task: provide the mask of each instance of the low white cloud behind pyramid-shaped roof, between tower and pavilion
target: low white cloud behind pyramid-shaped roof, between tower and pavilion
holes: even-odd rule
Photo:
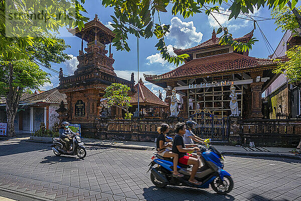
[[[137,83],[137,72],[135,71],[130,71],[130,70],[115,70],[115,73],[117,74],[118,77],[121,77],[123,79],[130,80],[130,75],[131,73],[134,73],[135,77],[135,84]],[[157,96],[159,96],[159,89],[162,91],[162,97],[163,100],[166,97],[166,91],[160,87],[157,86],[153,83],[150,83],[148,81],[145,81],[143,74],[148,74],[148,75],[153,75],[153,74],[161,74],[160,72],[155,72],[155,71],[139,71],[139,79],[142,78],[142,81],[144,82],[144,85],[153,93],[155,93]]]

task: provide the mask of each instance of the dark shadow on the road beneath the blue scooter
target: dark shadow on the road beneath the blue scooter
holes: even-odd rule
[[[205,189],[179,186],[167,186],[165,188],[150,186],[148,188],[143,188],[143,191],[144,199],[149,201],[162,198],[165,198],[165,200],[235,200],[232,195],[222,195],[208,192]]]

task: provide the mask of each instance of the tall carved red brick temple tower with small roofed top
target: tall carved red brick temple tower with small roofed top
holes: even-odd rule
[[[115,35],[99,22],[97,15],[82,30],[75,28],[68,31],[81,38],[82,42],[77,56],[79,64],[74,75],[64,77],[62,70],[60,73],[58,88],[67,95],[68,104],[68,115],[65,119],[72,124],[81,124],[82,133],[93,133],[104,89],[111,83],[121,83],[128,85],[133,92],[134,80],[133,76],[130,81],[116,76],[110,45]],[[87,43],[85,52],[83,41]],[[108,44],[109,51],[106,50]],[[112,114],[113,117],[120,118],[121,110],[112,109]]]

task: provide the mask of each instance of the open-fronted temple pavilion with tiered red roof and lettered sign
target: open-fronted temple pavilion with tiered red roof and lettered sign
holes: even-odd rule
[[[253,31],[234,40],[247,42]],[[213,30],[212,37],[188,49],[175,49],[177,55],[188,54],[185,64],[161,75],[144,75],[145,80],[161,86],[171,95],[176,89],[184,100],[183,117],[197,110],[209,110],[217,117],[231,115],[230,86],[238,95],[238,110],[243,118],[262,118],[262,88],[267,84],[276,63],[270,59],[254,58],[249,52],[219,45]],[[168,100],[170,104],[170,99]],[[185,114],[185,115],[184,115]]]

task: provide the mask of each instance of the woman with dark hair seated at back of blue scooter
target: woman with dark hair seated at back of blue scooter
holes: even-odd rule
[[[159,133],[158,138],[157,138],[158,154],[162,157],[168,157],[168,158],[173,157],[174,158],[174,160],[173,160],[173,163],[174,163],[173,177],[183,177],[184,175],[180,174],[178,172],[178,168],[177,168],[179,155],[170,151],[170,147],[173,147],[171,142],[169,142],[168,144],[165,144],[165,142],[167,141],[166,134],[169,132],[169,125],[162,124],[161,127],[157,128],[157,131]]]

